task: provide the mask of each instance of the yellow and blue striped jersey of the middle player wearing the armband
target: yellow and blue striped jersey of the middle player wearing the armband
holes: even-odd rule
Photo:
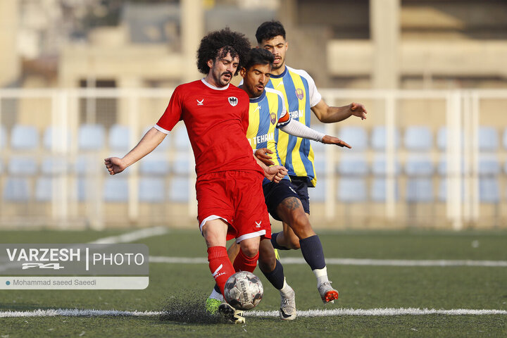
[[[277,90],[265,88],[261,96],[250,99],[246,138],[253,150],[268,148],[273,151],[272,159],[275,165],[282,165],[277,149],[279,128],[287,125],[289,120],[284,97]]]

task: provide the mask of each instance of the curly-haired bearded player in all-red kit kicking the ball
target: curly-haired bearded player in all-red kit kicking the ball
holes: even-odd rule
[[[255,158],[246,139],[249,97],[230,80],[249,50],[248,39],[228,28],[206,35],[197,60],[206,77],[178,86],[161,118],[139,144],[123,158],[104,160],[111,175],[121,173],[153,151],[183,120],[196,162],[199,228],[208,246],[209,268],[222,294],[235,270],[256,268],[261,237],[270,239],[263,178],[280,182],[287,175],[284,167],[268,167]],[[241,247],[233,263],[225,248],[232,238]],[[239,311],[226,303],[219,311],[244,322]]]

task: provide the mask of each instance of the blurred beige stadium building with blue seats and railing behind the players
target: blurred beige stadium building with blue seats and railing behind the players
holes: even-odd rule
[[[107,177],[101,159],[123,155],[173,88],[201,77],[206,32],[227,25],[255,45],[272,19],[287,30],[287,63],[307,70],[328,104],[370,111],[363,122],[314,124],[354,147],[315,145],[315,221],[505,225],[498,0],[2,0],[0,225],[193,224],[184,127],[121,177]]]

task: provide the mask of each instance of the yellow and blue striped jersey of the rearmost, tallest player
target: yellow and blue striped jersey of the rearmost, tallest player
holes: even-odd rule
[[[308,73],[286,65],[282,74],[270,76],[266,85],[268,88],[282,92],[291,118],[310,127],[311,107],[318,104],[322,96]],[[282,165],[289,170],[289,175],[308,177],[308,184],[315,187],[317,178],[310,140],[280,132],[277,148]]]

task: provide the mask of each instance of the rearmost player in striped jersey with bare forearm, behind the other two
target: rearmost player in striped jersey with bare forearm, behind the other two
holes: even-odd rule
[[[285,40],[284,27],[280,22],[268,21],[261,24],[257,28],[256,39],[258,47],[270,51],[275,58],[267,87],[282,92],[287,111],[293,120],[298,120],[309,127],[312,112],[323,123],[339,122],[351,115],[361,119],[366,118],[367,112],[362,104],[352,103],[343,107],[327,106],[311,76],[304,70],[296,70],[285,64],[288,44]],[[277,149],[278,154],[276,155],[280,156],[281,163],[289,171],[292,187],[298,194],[304,211],[309,215],[308,187],[315,187],[317,182],[311,144],[308,139],[280,132]],[[263,159],[265,164],[273,164],[274,162],[270,161],[272,156],[269,154],[273,154],[270,149],[256,151],[256,156]],[[275,157],[273,156],[273,158]],[[327,277],[322,244],[315,233],[309,237],[302,237],[301,234],[294,231],[294,227],[284,223],[283,231],[272,234],[271,242],[275,249],[301,248],[303,257],[317,277],[317,287],[324,303],[334,299],[328,299],[326,296],[328,290],[334,289]],[[337,296],[336,292],[336,298]]]

